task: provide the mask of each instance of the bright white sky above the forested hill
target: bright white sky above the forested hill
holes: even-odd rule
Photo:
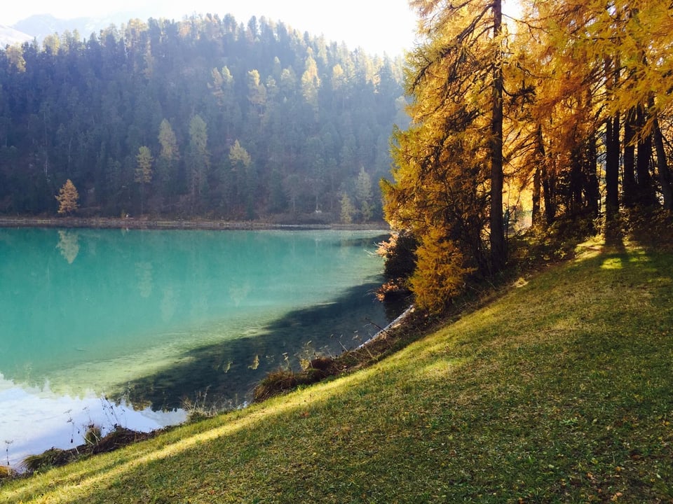
[[[416,28],[416,16],[407,0],[9,0],[0,8],[0,25],[11,26],[35,14],[71,19],[120,11],[137,13],[143,20],[230,13],[246,24],[252,15],[264,15],[314,36],[322,34],[328,41],[344,41],[351,49],[362,47],[393,57],[413,47]]]

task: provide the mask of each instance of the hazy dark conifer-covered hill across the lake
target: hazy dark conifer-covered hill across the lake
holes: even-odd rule
[[[0,51],[0,214],[368,221],[402,61],[282,22],[130,20]]]

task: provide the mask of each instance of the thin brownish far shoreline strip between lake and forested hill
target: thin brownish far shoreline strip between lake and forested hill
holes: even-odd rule
[[[165,218],[120,217],[11,217],[0,216],[0,228],[92,228],[136,230],[382,230],[385,222],[367,224],[278,224],[261,221],[222,221],[215,219],[172,220]]]

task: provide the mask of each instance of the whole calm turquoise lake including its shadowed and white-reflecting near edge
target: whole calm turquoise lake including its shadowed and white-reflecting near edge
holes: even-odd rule
[[[392,321],[377,231],[0,228],[0,463],[238,407]]]

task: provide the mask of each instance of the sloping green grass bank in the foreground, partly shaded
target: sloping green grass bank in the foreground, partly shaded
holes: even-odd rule
[[[673,254],[584,244],[367,369],[0,503],[673,502]]]

